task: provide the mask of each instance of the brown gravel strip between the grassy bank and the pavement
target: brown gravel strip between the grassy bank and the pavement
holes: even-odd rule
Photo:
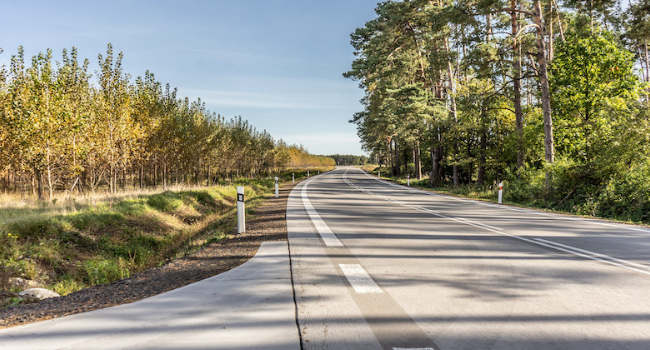
[[[244,234],[127,279],[0,310],[0,329],[132,303],[233,269],[253,257],[261,242],[287,240],[287,199],[293,187],[283,186],[279,198],[271,196],[258,207]]]

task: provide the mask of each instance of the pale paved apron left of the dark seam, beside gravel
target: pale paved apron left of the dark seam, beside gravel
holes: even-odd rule
[[[0,349],[300,349],[287,242],[135,303],[0,330]]]

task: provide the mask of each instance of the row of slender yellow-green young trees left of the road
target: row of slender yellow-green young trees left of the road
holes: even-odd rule
[[[241,117],[225,120],[146,72],[134,82],[109,44],[89,73],[77,50],[0,67],[0,190],[80,192],[255,176],[308,158]],[[301,158],[301,159],[302,159]],[[299,165],[310,164],[303,161]]]

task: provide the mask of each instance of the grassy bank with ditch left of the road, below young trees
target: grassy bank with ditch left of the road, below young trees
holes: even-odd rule
[[[325,169],[311,169],[311,173]],[[306,177],[289,170],[282,181]],[[246,189],[246,212],[272,195],[272,178],[220,186],[88,196],[26,203],[0,200],[2,305],[24,302],[23,284],[65,295],[110,283],[227,239],[236,228],[236,186]],[[9,293],[7,293],[9,292]]]

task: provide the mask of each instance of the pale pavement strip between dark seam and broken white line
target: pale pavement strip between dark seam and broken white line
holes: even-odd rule
[[[381,349],[330,260],[327,250],[342,248],[309,204],[305,193],[309,182],[296,186],[287,203],[287,234],[304,349]]]

